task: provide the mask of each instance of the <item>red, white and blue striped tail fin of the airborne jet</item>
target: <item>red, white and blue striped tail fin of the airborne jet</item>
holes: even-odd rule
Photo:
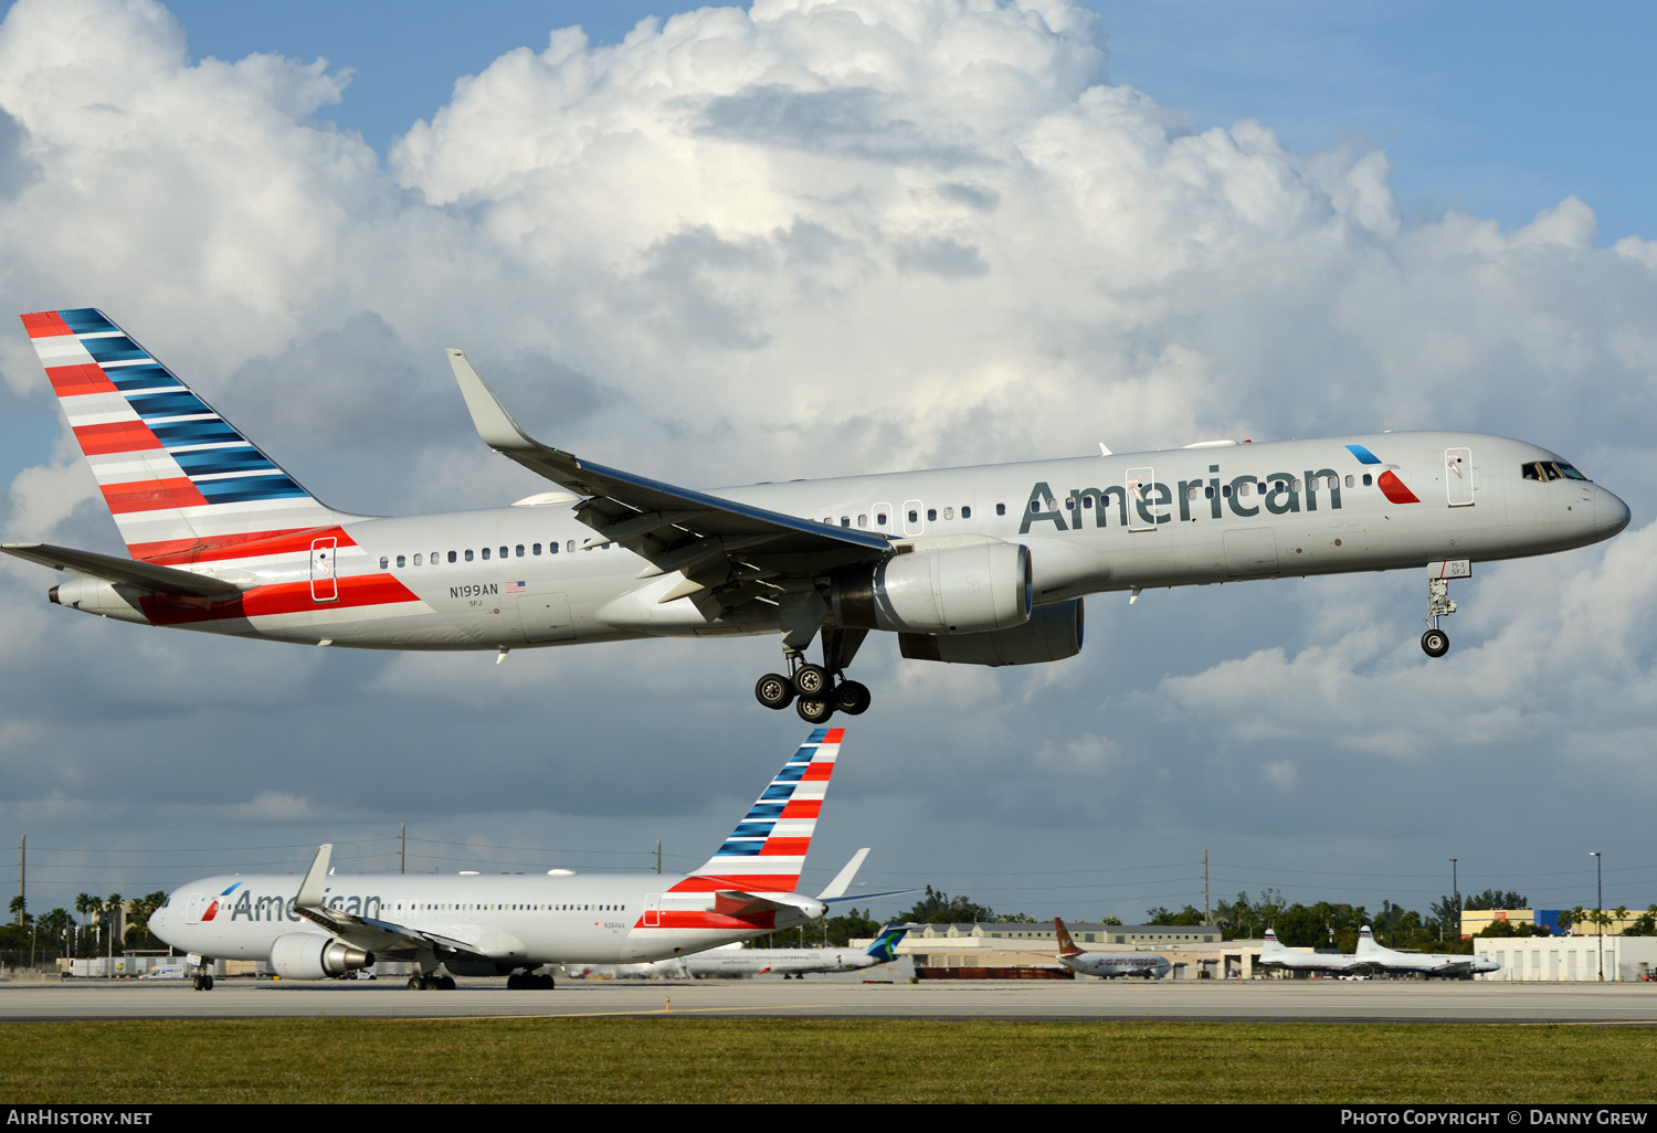
[[[302,489],[103,311],[22,318],[133,558],[224,558],[353,518]]]

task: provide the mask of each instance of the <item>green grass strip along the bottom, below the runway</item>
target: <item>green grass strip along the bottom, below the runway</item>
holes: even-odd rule
[[[535,1019],[0,1029],[10,1103],[1644,1102],[1657,1029]]]

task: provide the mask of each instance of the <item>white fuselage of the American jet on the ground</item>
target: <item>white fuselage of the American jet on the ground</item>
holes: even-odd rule
[[[721,916],[714,893],[673,893],[681,876],[335,875],[323,903],[365,921],[466,941],[500,971],[539,964],[668,959],[804,924],[777,909],[759,921]],[[167,944],[217,959],[268,959],[277,938],[325,933],[295,909],[298,876],[202,878],[149,921]]]

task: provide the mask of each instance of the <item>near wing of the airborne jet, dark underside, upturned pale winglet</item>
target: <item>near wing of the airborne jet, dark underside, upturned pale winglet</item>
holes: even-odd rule
[[[587,497],[575,505],[575,513],[603,537],[595,542],[621,543],[648,558],[653,568],[641,578],[684,571],[688,583],[669,591],[663,601],[724,586],[717,605],[731,608],[757,596],[752,588],[731,583],[820,575],[891,553],[886,537],[873,532],[832,527],[663,484],[540,444],[519,427],[464,353],[451,350],[449,364],[484,444]]]

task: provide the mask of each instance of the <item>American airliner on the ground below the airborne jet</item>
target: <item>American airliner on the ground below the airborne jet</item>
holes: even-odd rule
[[[421,967],[411,989],[454,987],[454,976],[550,989],[550,976],[534,974],[543,964],[656,961],[809,924],[845,899],[868,853],[815,898],[794,891],[842,732],[812,732],[714,856],[686,876],[346,876],[328,871],[325,845],[297,888],[292,875],[202,878],[174,890],[149,929],[191,954],[200,991],[212,989],[209,959],[268,961],[283,979],[411,961]]]

